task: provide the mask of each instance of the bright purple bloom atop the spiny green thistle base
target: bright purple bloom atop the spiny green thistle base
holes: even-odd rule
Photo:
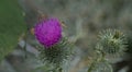
[[[36,39],[45,47],[52,47],[62,38],[62,26],[57,19],[51,17],[38,22],[34,28]]]

